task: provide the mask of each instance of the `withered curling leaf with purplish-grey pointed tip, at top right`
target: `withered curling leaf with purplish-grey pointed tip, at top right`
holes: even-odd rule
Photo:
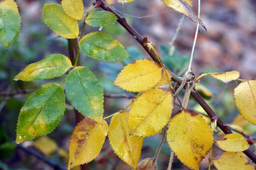
[[[203,22],[197,15],[195,14],[195,11],[193,9],[192,0],[162,0],[164,4],[168,7],[172,7],[176,11],[179,11],[180,13],[183,13],[190,19],[192,19],[194,22],[199,23],[203,28],[205,26],[203,25]]]

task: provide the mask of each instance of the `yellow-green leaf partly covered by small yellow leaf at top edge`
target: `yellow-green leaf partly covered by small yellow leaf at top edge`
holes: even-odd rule
[[[44,23],[63,38],[77,38],[79,34],[78,22],[73,19],[56,3],[44,5],[42,9]]]

